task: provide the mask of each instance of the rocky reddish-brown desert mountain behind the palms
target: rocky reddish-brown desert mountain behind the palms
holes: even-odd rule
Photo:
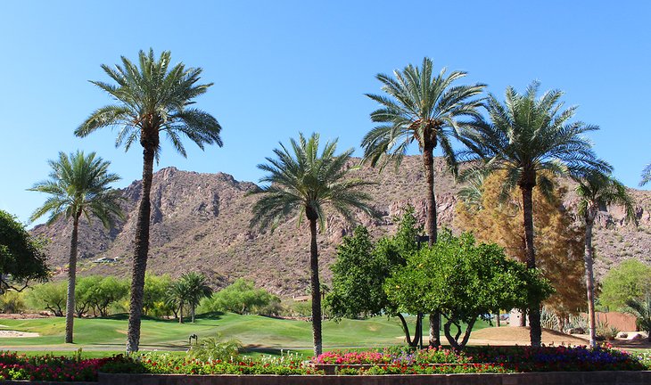
[[[459,185],[445,172],[442,160],[436,160],[435,169],[440,225],[451,226]],[[400,168],[389,166],[382,173],[365,166],[351,174],[375,183],[367,187],[367,192],[382,217],[357,216],[358,222],[367,225],[375,236],[392,232],[392,217],[407,204],[414,206],[424,220],[426,185],[420,157],[407,157]],[[80,226],[80,274],[130,274],[141,184],[136,181],[122,190],[127,217],[111,231],[104,230],[99,221]],[[309,286],[309,229],[304,221],[299,226],[296,218],[282,223],[273,233],[250,228],[251,206],[256,198],[247,193],[257,188],[256,184],[239,182],[222,173],[199,174],[177,168],[155,173],[148,271],[172,276],[201,271],[216,286],[246,277],[280,295],[303,294]],[[597,275],[624,258],[651,263],[647,252],[651,247],[651,193],[631,193],[637,204],[639,226],[624,223],[620,208],[605,208],[599,213],[595,231]],[[567,197],[568,206],[575,201],[572,194]],[[350,231],[351,226],[341,218],[329,215],[326,229],[318,236],[321,272],[326,282],[335,247]],[[50,262],[63,278],[71,224],[60,220],[50,226],[38,225],[33,232],[52,240],[48,246]],[[99,258],[116,260],[95,262]]]

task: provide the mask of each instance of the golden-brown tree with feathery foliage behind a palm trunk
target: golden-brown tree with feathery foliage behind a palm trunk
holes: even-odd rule
[[[472,231],[480,242],[496,242],[505,248],[507,256],[526,261],[524,249],[522,201],[517,192],[504,196],[504,172],[494,173],[481,184],[480,201],[466,200],[457,205],[455,225]],[[551,177],[550,182],[556,184]],[[584,232],[574,223],[570,210],[563,206],[567,189],[552,188],[547,197],[540,191],[532,194],[537,266],[556,292],[546,301],[559,320],[576,314],[586,303],[583,280]],[[493,309],[495,311],[497,309]]]

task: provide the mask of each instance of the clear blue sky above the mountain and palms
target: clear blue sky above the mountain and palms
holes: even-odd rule
[[[299,131],[358,148],[373,127],[364,94],[379,92],[375,74],[429,56],[500,96],[533,79],[564,90],[577,119],[601,127],[590,136],[598,155],[636,186],[651,161],[650,17],[647,1],[4,2],[0,209],[27,221],[45,196],[25,189],[60,151],[111,160],[118,187],[140,178],[138,146],[116,149],[110,129],[72,132],[111,102],[87,81],[107,80],[100,65],[149,47],[215,83],[197,106],[219,120],[225,143],[205,152],[188,143],[187,160],[166,143],[156,169],[257,181],[256,165]]]

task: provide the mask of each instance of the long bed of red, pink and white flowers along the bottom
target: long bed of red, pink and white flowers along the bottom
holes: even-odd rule
[[[201,361],[161,353],[80,359],[65,356],[18,356],[0,352],[0,381],[97,381],[97,373],[156,374],[323,374],[336,365],[339,374],[513,373],[552,371],[651,370],[651,353],[630,354],[609,346],[384,348],[329,351],[310,361],[299,356],[234,356],[226,361]]]

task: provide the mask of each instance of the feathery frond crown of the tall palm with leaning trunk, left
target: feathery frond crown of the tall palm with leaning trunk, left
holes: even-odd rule
[[[159,133],[165,132],[174,149],[185,156],[182,137],[201,149],[205,144],[222,146],[221,126],[209,113],[188,108],[194,99],[205,94],[212,83],[199,84],[201,69],[171,66],[171,53],[164,51],[156,58],[152,49],[140,51],[136,63],[122,57],[114,67],[102,69],[114,83],[91,82],[110,94],[116,103],[94,111],[76,130],[86,136],[103,127],[118,127],[116,146],[128,150],[147,135],[144,145],[153,146],[156,160],[160,156]]]

